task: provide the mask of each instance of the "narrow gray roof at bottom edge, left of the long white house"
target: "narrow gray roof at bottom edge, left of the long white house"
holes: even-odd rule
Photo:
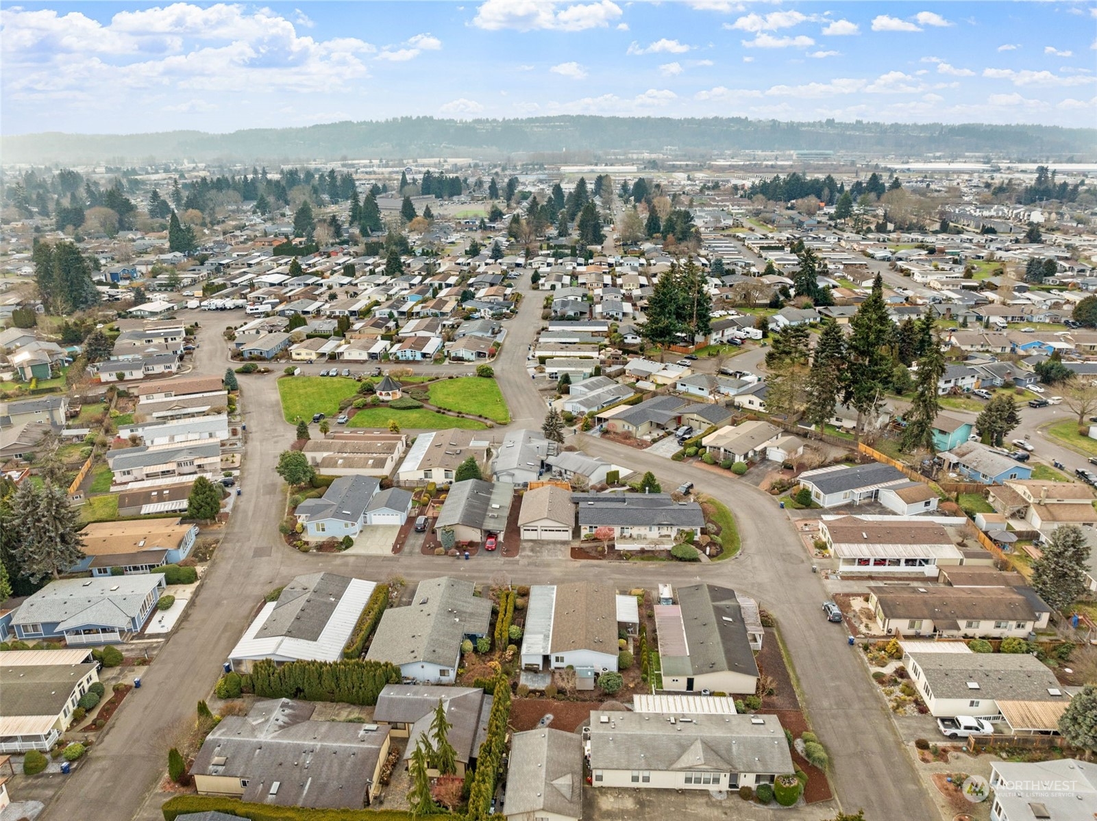
[[[507,785],[508,817],[583,818],[583,739],[551,728],[516,732]]]

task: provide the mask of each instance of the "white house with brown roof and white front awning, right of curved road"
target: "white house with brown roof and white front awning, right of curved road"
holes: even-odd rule
[[[842,574],[902,573],[936,578],[938,566],[960,565],[963,555],[936,522],[841,516],[819,523],[819,537]]]

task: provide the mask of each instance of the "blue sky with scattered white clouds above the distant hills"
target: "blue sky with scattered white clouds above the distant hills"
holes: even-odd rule
[[[400,115],[1097,125],[1082,2],[21,3],[0,130]]]

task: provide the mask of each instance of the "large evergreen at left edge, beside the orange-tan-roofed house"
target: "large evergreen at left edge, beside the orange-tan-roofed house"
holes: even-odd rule
[[[77,509],[68,494],[46,481],[41,488],[23,482],[11,502],[12,516],[4,527],[14,528],[12,558],[32,582],[46,577],[59,579],[63,572],[84,558]]]

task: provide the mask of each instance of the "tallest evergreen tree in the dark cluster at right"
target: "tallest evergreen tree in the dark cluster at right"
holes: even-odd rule
[[[880,274],[872,282],[872,293],[850,320],[850,328],[842,398],[857,411],[857,435],[860,436],[866,423],[877,415],[892,374],[890,346],[894,324],[887,316]]]

